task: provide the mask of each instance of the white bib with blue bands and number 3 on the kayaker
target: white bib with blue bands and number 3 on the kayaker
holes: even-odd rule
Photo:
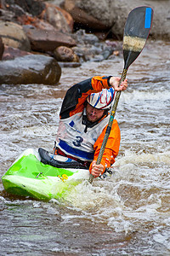
[[[82,125],[82,112],[67,119],[60,119],[56,147],[80,160],[94,160],[94,143],[108,124],[109,118],[110,116],[107,116],[102,119],[95,128],[88,127],[86,132],[86,125]]]

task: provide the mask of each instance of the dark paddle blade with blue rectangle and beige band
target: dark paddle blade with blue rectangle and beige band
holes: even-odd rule
[[[153,9],[141,6],[133,9],[128,17],[123,35],[123,57],[125,69],[139,56],[150,34],[153,19]]]

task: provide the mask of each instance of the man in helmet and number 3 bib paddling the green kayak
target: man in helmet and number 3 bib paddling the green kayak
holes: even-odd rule
[[[67,90],[59,113],[54,154],[88,166],[94,177],[115,162],[119,151],[121,133],[114,119],[101,163],[96,165],[115,91],[127,89],[127,79],[118,87],[119,81],[118,77],[96,76],[73,85]]]

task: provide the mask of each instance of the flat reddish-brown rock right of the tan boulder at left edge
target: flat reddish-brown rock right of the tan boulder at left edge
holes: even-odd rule
[[[34,26],[23,26],[31,42],[31,49],[47,52],[53,51],[60,45],[72,47],[76,41],[71,36],[62,32],[41,30]]]

